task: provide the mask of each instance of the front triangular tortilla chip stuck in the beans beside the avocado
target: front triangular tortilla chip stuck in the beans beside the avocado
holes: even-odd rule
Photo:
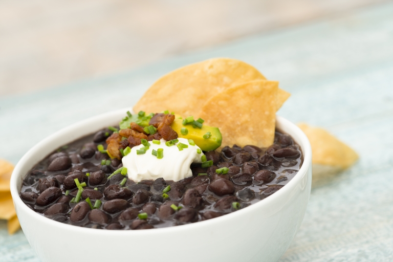
[[[198,114],[223,135],[221,148],[274,142],[278,82],[256,80],[227,89],[211,97]]]

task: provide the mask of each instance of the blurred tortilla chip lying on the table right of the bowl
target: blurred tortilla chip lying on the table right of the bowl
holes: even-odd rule
[[[313,164],[347,168],[353,165],[359,156],[356,152],[326,130],[311,127],[305,123],[298,124],[309,138],[313,150]]]

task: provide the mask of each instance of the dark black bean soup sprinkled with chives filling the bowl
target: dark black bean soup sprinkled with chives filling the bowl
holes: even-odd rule
[[[105,139],[111,134],[109,129],[100,130],[43,159],[24,179],[21,199],[49,219],[76,226],[177,226],[213,219],[269,197],[295,176],[303,159],[292,138],[276,132],[268,148],[233,145],[220,153],[204,152],[213,166],[192,164],[193,176],[179,182],[158,178],[135,183],[125,181],[127,175],[120,172],[108,180],[122,163],[98,151],[97,145],[106,148]],[[228,173],[216,173],[222,167],[228,167]]]

